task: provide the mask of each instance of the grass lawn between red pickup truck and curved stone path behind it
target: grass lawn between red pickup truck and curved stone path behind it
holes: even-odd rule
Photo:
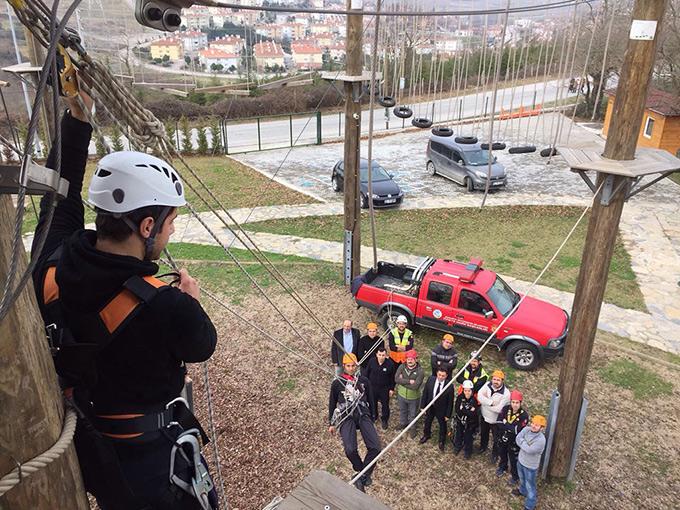
[[[380,211],[376,215],[377,244],[383,249],[460,261],[481,257],[489,269],[533,281],[581,212],[580,208],[558,206]],[[338,242],[343,236],[340,216],[271,220],[250,223],[246,228]],[[584,218],[541,284],[574,291],[586,230]],[[362,215],[362,239],[362,244],[370,243],[366,214]],[[630,256],[620,239],[605,300],[646,311]]]

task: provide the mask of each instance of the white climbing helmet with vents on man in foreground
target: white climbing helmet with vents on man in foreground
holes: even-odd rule
[[[186,204],[184,186],[174,168],[155,156],[134,151],[113,152],[99,160],[88,202],[114,214],[152,205]]]

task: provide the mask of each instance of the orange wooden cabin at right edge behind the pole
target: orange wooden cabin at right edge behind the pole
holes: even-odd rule
[[[606,94],[609,96],[609,101],[602,128],[602,134],[605,137],[614,111],[616,90],[609,90]],[[674,156],[680,157],[680,96],[653,88],[649,89],[637,144],[638,147],[665,149]]]

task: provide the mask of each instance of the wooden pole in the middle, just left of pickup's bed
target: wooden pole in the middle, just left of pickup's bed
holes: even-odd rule
[[[356,8],[357,4],[359,5]],[[354,7],[354,9],[353,9]],[[345,72],[349,76],[361,76],[363,71],[363,15],[361,1],[347,0],[347,8],[359,14],[347,16],[347,49]],[[361,142],[361,81],[345,82],[345,232],[351,233],[351,261],[345,260],[345,274],[354,278],[361,272],[361,193],[360,142]],[[369,198],[370,200],[370,198]]]

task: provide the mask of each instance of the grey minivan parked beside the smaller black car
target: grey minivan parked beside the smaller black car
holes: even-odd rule
[[[486,188],[489,151],[479,143],[457,143],[455,137],[432,135],[427,144],[427,171],[465,186],[468,191]],[[505,167],[494,156],[491,164],[491,190],[508,183]]]

